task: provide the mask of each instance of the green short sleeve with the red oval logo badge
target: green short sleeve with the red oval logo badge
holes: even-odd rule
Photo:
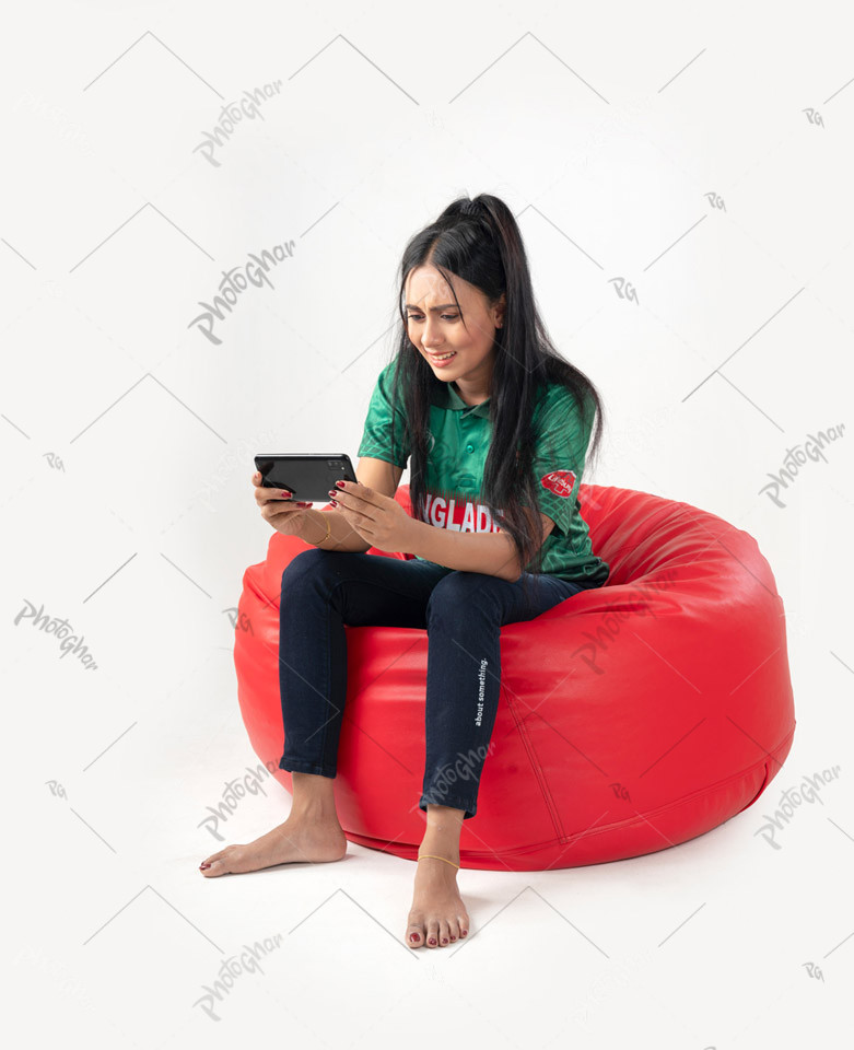
[[[575,398],[560,387],[545,404],[535,427],[533,476],[540,511],[554,522],[554,532],[570,535],[594,421],[588,401],[585,418]]]

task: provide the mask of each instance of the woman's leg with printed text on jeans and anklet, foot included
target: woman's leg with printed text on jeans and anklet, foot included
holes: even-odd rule
[[[534,619],[583,590],[557,576],[525,576],[527,591],[523,578],[511,583],[455,571],[438,581],[428,603],[426,762],[419,802],[426,830],[406,934],[413,948],[451,944],[468,930],[456,868],[445,860],[459,864],[463,821],[477,813],[499,705],[501,628]]]

